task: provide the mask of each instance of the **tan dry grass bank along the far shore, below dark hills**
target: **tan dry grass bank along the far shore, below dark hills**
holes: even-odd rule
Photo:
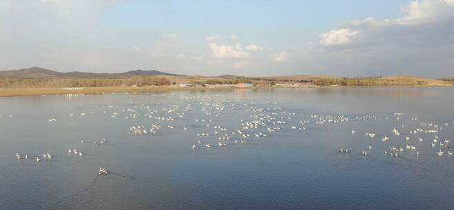
[[[126,82],[130,85],[115,84],[115,86],[77,86],[81,90],[67,90],[61,86],[66,82],[75,82],[75,80],[55,80],[54,82],[62,82],[59,87],[6,87],[0,88],[0,97],[5,96],[21,96],[21,95],[55,95],[55,94],[96,94],[96,93],[120,93],[120,92],[152,92],[152,91],[167,91],[167,90],[210,90],[216,88],[232,88],[228,86],[197,86],[197,87],[180,87],[178,84],[236,84],[238,82],[253,82],[255,88],[308,88],[308,87],[323,87],[323,88],[386,88],[386,87],[453,87],[454,82],[443,81],[438,79],[426,79],[412,76],[391,76],[391,77],[370,77],[370,78],[342,78],[342,77],[327,77],[327,76],[289,76],[289,77],[133,77]],[[98,82],[98,79],[84,80]],[[118,81],[118,80],[115,80]],[[125,82],[122,81],[122,82]],[[41,81],[42,82],[42,81]],[[48,82],[48,81],[46,81]],[[77,81],[81,82],[81,81]],[[110,82],[110,80],[106,80]],[[139,84],[139,86],[137,86]],[[154,84],[156,86],[149,86]],[[176,85],[168,85],[176,84]],[[275,84],[278,84],[277,86]],[[310,84],[304,86],[304,84]],[[56,85],[57,84],[52,84]]]

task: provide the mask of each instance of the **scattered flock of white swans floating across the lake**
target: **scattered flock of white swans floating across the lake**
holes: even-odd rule
[[[176,95],[176,93],[170,94]],[[168,96],[169,97],[169,96]],[[442,122],[420,122],[417,117],[407,117],[405,120],[417,123],[417,126],[406,127],[403,113],[391,113],[388,115],[304,115],[295,111],[286,111],[284,108],[278,107],[277,103],[266,102],[265,104],[255,104],[253,100],[247,99],[231,100],[230,102],[220,101],[210,98],[202,94],[179,94],[181,104],[134,104],[132,99],[129,99],[127,108],[122,106],[106,106],[106,110],[102,113],[112,119],[123,117],[124,119],[132,120],[128,131],[125,131],[130,136],[135,135],[159,135],[161,133],[172,133],[172,129],[181,129],[182,132],[190,132],[194,130],[193,143],[190,144],[190,149],[223,149],[233,144],[241,145],[250,142],[257,142],[261,138],[273,140],[276,132],[298,131],[305,132],[308,129],[317,129],[317,126],[324,124],[348,123],[367,120],[393,120],[399,126],[391,130],[392,135],[388,133],[373,133],[366,131],[365,140],[375,140],[376,137],[381,139],[383,144],[386,144],[387,149],[382,151],[382,154],[390,157],[399,157],[404,152],[420,155],[419,146],[423,144],[431,144],[436,155],[453,155],[450,146],[450,140],[440,138],[444,127],[452,127],[453,123]],[[195,105],[194,105],[195,104]],[[197,116],[205,116],[203,118],[188,117],[191,113],[202,114]],[[246,113],[246,114],[245,114]],[[69,113],[70,117],[76,117],[77,114]],[[79,116],[85,116],[87,113],[79,113]],[[228,126],[224,123],[225,119],[222,116],[233,115],[237,117],[237,122],[229,120]],[[9,116],[12,117],[12,116]],[[137,122],[141,123],[137,125]],[[50,123],[56,123],[55,117],[48,119]],[[235,126],[232,126],[235,124]],[[405,129],[404,129],[405,128]],[[358,135],[358,129],[351,127],[350,135]],[[198,132],[197,132],[197,131]],[[200,132],[203,130],[203,132]],[[424,137],[422,134],[424,133]],[[191,133],[192,135],[192,133]],[[84,143],[81,140],[81,143]],[[104,144],[105,139],[95,141],[95,144]],[[376,141],[377,143],[379,141]],[[371,155],[373,146],[369,144],[363,149],[351,149],[349,146],[340,148],[337,152],[340,154],[359,154]],[[358,151],[358,152],[355,152]],[[68,149],[70,155],[83,155],[77,149]],[[28,155],[16,154],[17,159],[28,159]],[[35,157],[37,162],[50,160],[50,153],[43,153]],[[108,174],[106,168],[99,168],[99,175]]]

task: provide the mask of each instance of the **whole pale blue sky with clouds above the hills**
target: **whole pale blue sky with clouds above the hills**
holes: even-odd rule
[[[0,70],[454,76],[454,0],[0,0]]]

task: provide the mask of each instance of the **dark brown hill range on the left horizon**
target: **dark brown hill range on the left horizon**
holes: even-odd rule
[[[126,77],[152,77],[152,76],[175,76],[180,77],[183,75],[164,73],[158,70],[130,70],[126,73],[85,73],[79,71],[72,71],[68,73],[61,73],[55,70],[46,68],[32,67],[22,68],[19,70],[0,70],[0,77],[14,77],[14,78],[106,78],[106,79],[119,79]]]

